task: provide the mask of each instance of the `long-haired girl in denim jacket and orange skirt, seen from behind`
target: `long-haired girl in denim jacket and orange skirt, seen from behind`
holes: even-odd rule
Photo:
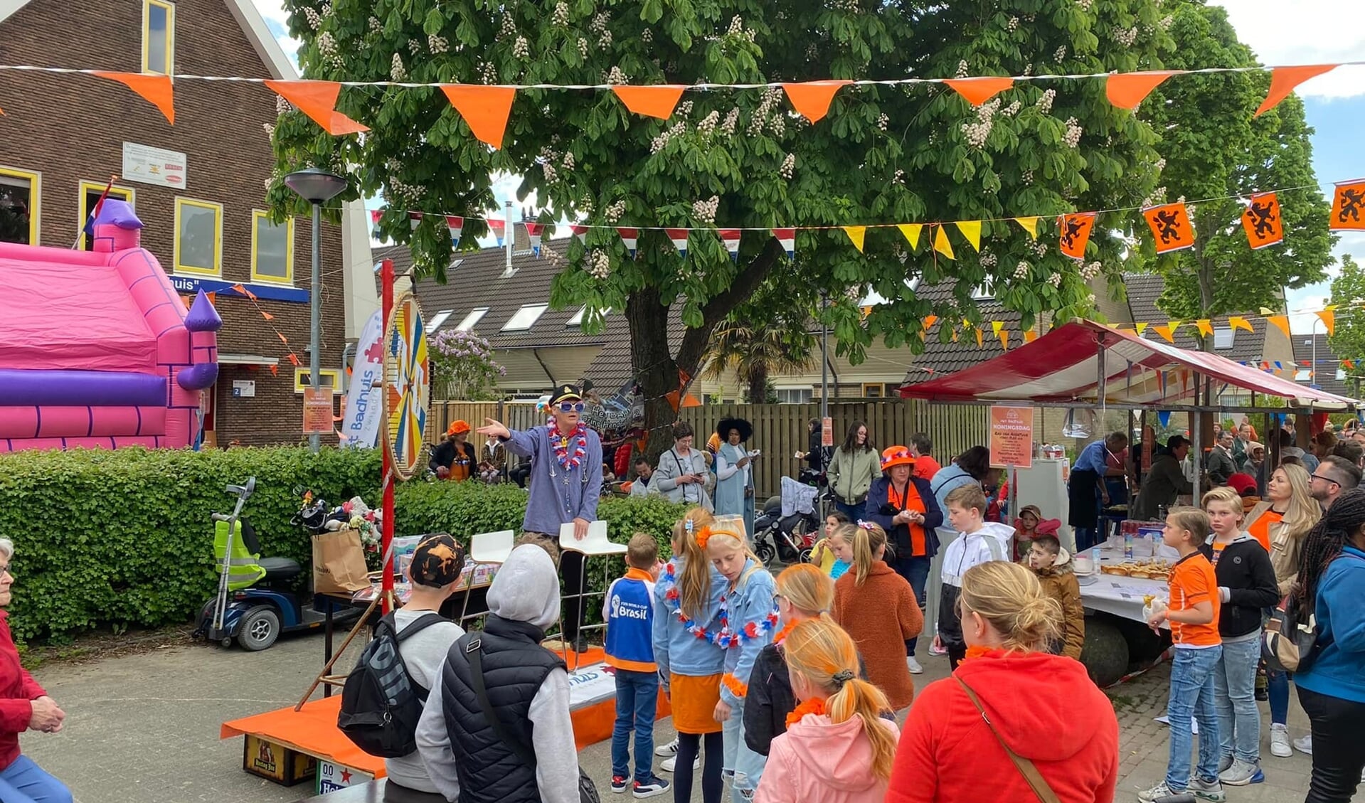
[[[692,800],[692,776],[703,740],[703,802],[721,803],[723,788],[723,746],[714,712],[721,699],[725,650],[707,634],[715,630],[726,580],[711,567],[702,546],[714,523],[711,513],[702,508],[687,512],[673,527],[673,559],[654,586],[654,660],[678,732],[673,759],[673,799],[677,803]]]

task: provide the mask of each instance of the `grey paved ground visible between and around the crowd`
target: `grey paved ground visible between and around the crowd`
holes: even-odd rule
[[[281,640],[263,653],[177,645],[85,665],[40,666],[35,676],[67,710],[67,725],[57,735],[26,733],[22,746],[71,787],[76,803],[299,800],[311,795],[307,785],[278,787],[242,772],[242,740],[220,742],[218,725],[292,705],[321,661],[322,638],[306,635]],[[947,658],[928,657],[921,649],[920,662],[925,673],[915,679],[917,688],[947,675]],[[1164,776],[1167,728],[1153,718],[1166,712],[1168,679],[1163,665],[1111,690],[1121,729],[1119,802],[1136,802],[1138,789]],[[1290,729],[1298,736],[1306,727],[1295,701]],[[673,737],[670,720],[659,722],[655,737]],[[580,754],[580,761],[598,781],[603,799],[610,798],[610,746],[594,744]],[[1267,783],[1228,788],[1231,803],[1304,799],[1309,757],[1274,758],[1263,737],[1263,766]],[[699,788],[693,800],[700,803]],[[1355,800],[1365,803],[1365,795],[1357,793]]]

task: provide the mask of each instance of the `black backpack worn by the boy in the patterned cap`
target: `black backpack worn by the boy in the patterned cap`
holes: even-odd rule
[[[418,720],[427,690],[412,680],[399,645],[441,621],[449,620],[427,613],[397,632],[390,613],[374,625],[374,638],[341,688],[341,713],[337,714],[337,728],[360,750],[399,758],[418,748]]]

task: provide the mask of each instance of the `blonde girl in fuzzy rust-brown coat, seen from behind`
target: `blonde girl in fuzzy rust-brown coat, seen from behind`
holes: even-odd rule
[[[886,563],[886,531],[860,522],[853,533],[853,567],[834,583],[834,621],[853,638],[867,677],[886,692],[893,710],[915,699],[905,642],[924,630],[910,583]]]

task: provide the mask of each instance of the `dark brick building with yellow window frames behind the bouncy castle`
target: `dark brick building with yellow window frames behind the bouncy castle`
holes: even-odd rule
[[[251,0],[0,0],[0,64],[298,76]],[[0,71],[0,239],[71,247],[119,175],[112,195],[136,209],[142,244],[184,296],[213,292],[224,320],[206,441],[302,440],[313,234],[307,217],[277,225],[265,213],[276,96],[258,83],[176,81],[171,126],[111,81]],[[340,391],[347,343],[378,309],[359,203],[341,225],[324,224],[321,254],[319,373]]]

